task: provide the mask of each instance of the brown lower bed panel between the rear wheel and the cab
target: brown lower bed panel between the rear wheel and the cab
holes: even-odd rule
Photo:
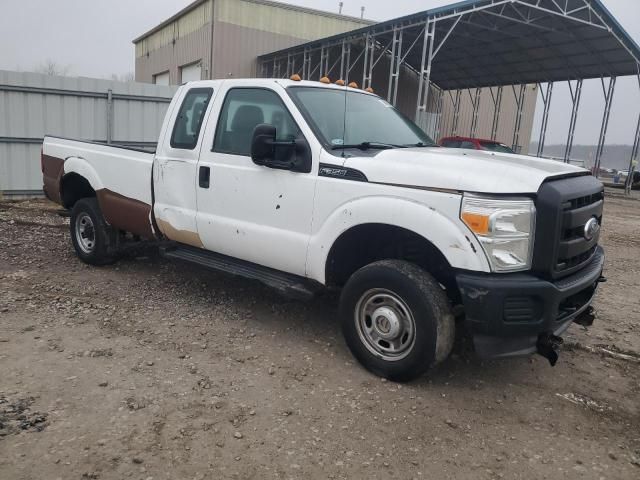
[[[151,229],[151,205],[125,197],[109,189],[96,192],[105,220],[115,228],[141,237],[155,237]]]

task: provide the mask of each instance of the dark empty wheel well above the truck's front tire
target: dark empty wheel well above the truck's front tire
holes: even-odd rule
[[[389,259],[415,263],[444,285],[449,295],[457,294],[453,269],[433,243],[411,230],[377,223],[358,225],[338,237],[327,258],[326,283],[342,287],[365,265]]]

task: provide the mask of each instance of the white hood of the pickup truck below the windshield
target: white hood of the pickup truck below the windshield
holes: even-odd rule
[[[551,177],[587,170],[556,160],[459,148],[398,148],[349,157],[370,182],[462,192],[530,194]]]

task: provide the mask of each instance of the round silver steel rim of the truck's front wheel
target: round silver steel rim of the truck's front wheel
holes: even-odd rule
[[[385,361],[402,360],[415,345],[413,313],[390,290],[376,288],[365,292],[356,305],[355,323],[364,346]]]

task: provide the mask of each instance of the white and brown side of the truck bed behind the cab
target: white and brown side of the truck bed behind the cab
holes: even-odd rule
[[[46,136],[42,172],[47,197],[67,207],[72,174],[86,179],[96,192],[106,220],[145,237],[151,229],[151,169],[154,153],[121,145]]]

